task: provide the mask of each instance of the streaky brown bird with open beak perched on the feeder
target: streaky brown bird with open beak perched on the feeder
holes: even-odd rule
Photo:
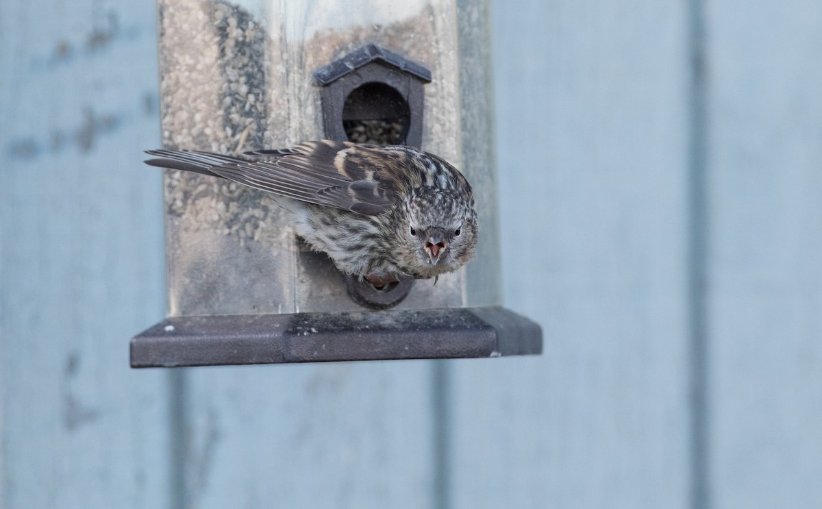
[[[436,278],[473,257],[471,186],[451,164],[409,146],[307,141],[244,159],[148,150],[152,166],[228,178],[275,195],[298,235],[340,271],[381,287]],[[436,282],[436,280],[435,280]]]

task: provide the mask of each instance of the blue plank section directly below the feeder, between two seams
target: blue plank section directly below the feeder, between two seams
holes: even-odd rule
[[[432,507],[431,370],[188,370],[184,507]]]

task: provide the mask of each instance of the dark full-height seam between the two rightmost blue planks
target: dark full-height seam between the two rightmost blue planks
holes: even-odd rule
[[[709,509],[707,53],[704,0],[688,2],[688,317],[690,507]]]

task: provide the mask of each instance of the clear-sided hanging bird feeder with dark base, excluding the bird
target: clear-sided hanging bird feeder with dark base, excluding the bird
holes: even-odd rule
[[[501,307],[487,9],[315,3],[159,0],[164,146],[418,146],[472,183],[477,257],[436,285],[376,289],[312,252],[265,192],[167,171],[169,317],[132,338],[132,367],[541,353],[539,326]]]

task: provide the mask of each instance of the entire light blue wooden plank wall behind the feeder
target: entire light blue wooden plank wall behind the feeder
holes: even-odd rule
[[[133,371],[153,2],[0,6],[0,508],[818,507],[822,4],[492,5],[538,358]]]

